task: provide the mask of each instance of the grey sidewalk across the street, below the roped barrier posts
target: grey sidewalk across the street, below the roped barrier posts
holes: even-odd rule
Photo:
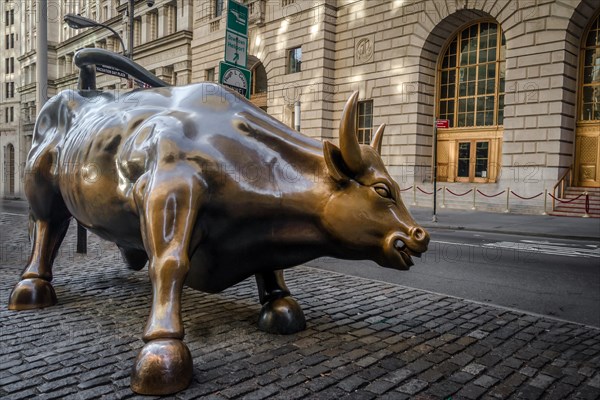
[[[506,233],[560,239],[600,240],[600,219],[520,215],[442,208],[438,222],[432,222],[432,209],[409,207],[417,222],[426,228]]]

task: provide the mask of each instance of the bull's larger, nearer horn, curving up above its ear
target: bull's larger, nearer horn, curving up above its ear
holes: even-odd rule
[[[364,165],[358,138],[356,137],[356,109],[358,107],[358,92],[346,102],[340,122],[340,150],[344,163],[350,171],[358,174],[363,171]]]

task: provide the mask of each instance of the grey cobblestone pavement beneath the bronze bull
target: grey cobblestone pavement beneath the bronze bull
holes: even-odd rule
[[[136,397],[146,270],[127,270],[93,236],[88,255],[74,255],[71,229],[55,268],[59,304],[9,312],[26,219],[0,218],[0,397]],[[175,397],[600,398],[598,329],[308,267],[286,274],[308,322],[290,336],[257,329],[253,280],[216,295],[185,290],[194,380]]]

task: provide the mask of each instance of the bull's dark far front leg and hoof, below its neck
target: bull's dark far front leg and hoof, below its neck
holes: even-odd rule
[[[289,335],[306,329],[302,308],[290,296],[282,270],[256,274],[256,284],[263,305],[258,317],[260,330]]]

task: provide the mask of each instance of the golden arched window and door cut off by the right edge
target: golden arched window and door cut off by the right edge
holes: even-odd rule
[[[600,187],[600,14],[583,35],[580,62],[575,181]]]

